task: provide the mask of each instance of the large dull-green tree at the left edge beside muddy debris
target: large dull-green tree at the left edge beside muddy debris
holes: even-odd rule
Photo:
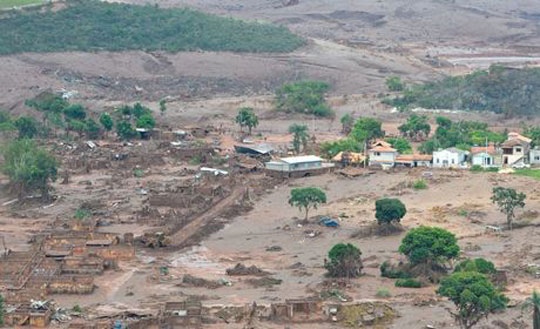
[[[19,198],[35,190],[41,192],[44,200],[49,198],[49,182],[54,182],[57,175],[54,156],[30,139],[9,142],[2,148],[2,155],[2,172],[9,177]]]

